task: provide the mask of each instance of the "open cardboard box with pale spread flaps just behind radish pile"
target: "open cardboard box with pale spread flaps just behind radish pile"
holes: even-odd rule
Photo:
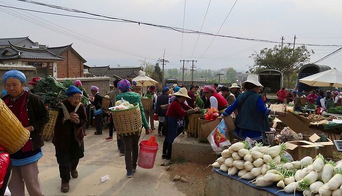
[[[306,156],[315,158],[318,155],[317,147],[323,147],[322,145],[315,144],[305,140],[288,141],[285,143],[287,150],[293,160],[300,160]]]

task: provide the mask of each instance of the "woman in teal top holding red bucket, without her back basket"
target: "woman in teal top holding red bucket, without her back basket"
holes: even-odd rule
[[[124,100],[128,101],[129,103],[138,103],[142,118],[142,123],[145,128],[146,134],[151,133],[151,128],[148,126],[148,123],[145,118],[144,109],[141,103],[141,98],[138,93],[132,92],[131,84],[128,80],[124,79],[117,83],[117,88],[120,90],[120,94],[116,96],[116,101],[121,100],[123,98]],[[120,134],[120,132],[117,132],[118,136],[121,137],[123,140],[123,143],[125,145],[125,163],[126,163],[126,170],[127,170],[127,178],[132,178],[133,172],[135,172],[137,167],[137,161],[138,161],[138,155],[139,155],[139,138],[141,134],[140,130],[132,131],[129,134]]]

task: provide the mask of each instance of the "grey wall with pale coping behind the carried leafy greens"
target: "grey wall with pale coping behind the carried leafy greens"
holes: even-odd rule
[[[75,78],[57,78],[58,82],[65,82],[65,80],[81,80],[83,88],[90,94],[90,87],[99,87],[99,92],[102,96],[105,96],[110,92],[111,78],[109,77],[75,77]]]

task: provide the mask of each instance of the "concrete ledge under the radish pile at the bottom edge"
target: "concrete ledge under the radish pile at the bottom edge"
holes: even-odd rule
[[[173,152],[172,152],[173,153]],[[235,179],[221,175],[214,170],[204,188],[205,196],[274,196],[270,192],[256,189]]]

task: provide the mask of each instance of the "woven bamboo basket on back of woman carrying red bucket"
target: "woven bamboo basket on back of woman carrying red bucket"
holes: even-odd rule
[[[138,134],[141,131],[142,119],[139,104],[133,103],[133,108],[112,110],[115,130],[120,136]]]

